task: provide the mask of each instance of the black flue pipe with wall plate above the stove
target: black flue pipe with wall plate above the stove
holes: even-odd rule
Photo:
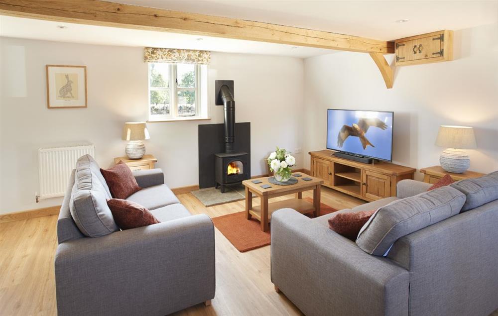
[[[216,105],[223,105],[225,110],[225,152],[234,152],[235,142],[235,100],[234,81],[216,80]]]

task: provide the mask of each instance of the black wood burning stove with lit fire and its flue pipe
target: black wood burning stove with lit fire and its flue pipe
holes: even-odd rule
[[[235,143],[235,100],[234,82],[216,80],[216,105],[223,105],[225,111],[225,152],[215,154],[216,188],[240,184],[250,178],[250,157],[247,152],[234,152]]]

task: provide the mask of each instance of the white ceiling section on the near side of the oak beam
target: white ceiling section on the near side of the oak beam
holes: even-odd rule
[[[379,40],[498,21],[497,0],[110,0]],[[396,20],[409,19],[406,23]]]

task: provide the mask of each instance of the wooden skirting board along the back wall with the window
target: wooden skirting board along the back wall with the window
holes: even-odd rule
[[[303,172],[307,175],[311,174],[311,172],[308,169],[294,169],[294,170],[292,170],[292,172]],[[269,174],[251,176],[251,179],[268,177],[268,176],[269,176]],[[171,189],[171,191],[173,191],[173,193],[175,195],[186,194],[186,193],[190,193],[190,192],[195,191],[195,190],[199,190],[199,185],[191,185],[191,186]],[[61,206],[58,205],[58,206],[48,207],[48,208],[43,208],[43,209],[6,213],[6,214],[0,215],[0,223],[6,223],[9,221],[14,221],[14,220],[24,220],[24,219],[29,219],[29,218],[41,217],[41,216],[57,215],[57,214],[59,214],[60,208],[61,208]]]

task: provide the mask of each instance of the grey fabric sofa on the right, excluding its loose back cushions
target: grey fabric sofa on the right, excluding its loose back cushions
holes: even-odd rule
[[[397,197],[341,212],[429,187],[403,180]],[[307,316],[487,316],[498,308],[498,200],[399,238],[386,257],[329,229],[330,217],[283,209],[271,218],[271,281]]]

